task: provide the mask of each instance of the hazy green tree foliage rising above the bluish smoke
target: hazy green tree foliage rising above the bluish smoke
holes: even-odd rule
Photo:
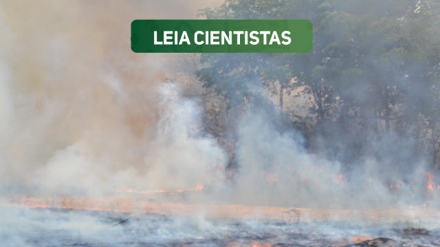
[[[314,23],[314,49],[309,54],[204,54],[206,67],[199,79],[229,99],[230,107],[245,104],[261,88],[280,95],[280,104],[283,93],[295,91],[311,99],[307,115],[301,117],[308,123],[298,124],[308,131],[306,136],[336,135],[342,128],[347,145],[353,145],[406,132],[422,146],[434,142],[428,152],[437,162],[437,1],[226,0],[219,8],[202,10],[201,16]],[[431,123],[430,140],[420,134],[421,123]]]

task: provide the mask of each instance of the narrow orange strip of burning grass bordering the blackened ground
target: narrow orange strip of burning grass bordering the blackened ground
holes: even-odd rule
[[[395,209],[309,209],[285,207],[260,207],[242,204],[191,204],[184,202],[159,202],[151,198],[133,196],[81,197],[28,197],[14,196],[3,202],[7,207],[32,209],[76,209],[87,211],[113,211],[122,213],[150,213],[185,217],[242,218],[283,220],[285,222],[345,222],[362,220],[379,223],[410,224],[440,221],[440,211],[430,207]]]

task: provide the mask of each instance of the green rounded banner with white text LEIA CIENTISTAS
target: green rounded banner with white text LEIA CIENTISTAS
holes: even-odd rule
[[[137,53],[307,53],[313,47],[308,20],[135,20],[131,50]]]

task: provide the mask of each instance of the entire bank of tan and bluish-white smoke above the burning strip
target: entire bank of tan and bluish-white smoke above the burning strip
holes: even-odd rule
[[[371,152],[349,170],[325,152],[311,154],[302,134],[264,93],[236,119],[237,177],[227,182],[228,152],[200,125],[199,101],[164,83],[168,57],[129,49],[133,19],[185,18],[191,5],[45,1],[25,6],[1,5],[3,185],[100,195],[202,184],[211,187],[210,199],[217,202],[289,207],[419,202],[426,162],[412,158],[409,135],[371,140]],[[249,89],[259,84],[252,81]],[[391,183],[404,189],[393,191]]]

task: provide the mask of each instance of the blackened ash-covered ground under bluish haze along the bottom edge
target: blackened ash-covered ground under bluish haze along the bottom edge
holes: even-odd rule
[[[439,228],[1,209],[1,246],[440,246]]]

